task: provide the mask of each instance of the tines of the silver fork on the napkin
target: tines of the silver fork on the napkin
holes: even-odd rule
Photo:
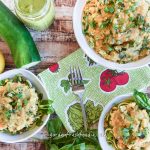
[[[70,67],[72,85],[83,84],[82,74],[79,67]]]

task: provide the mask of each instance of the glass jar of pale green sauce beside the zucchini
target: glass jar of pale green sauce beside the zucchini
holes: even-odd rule
[[[14,0],[18,18],[29,28],[43,31],[54,21],[53,0]]]

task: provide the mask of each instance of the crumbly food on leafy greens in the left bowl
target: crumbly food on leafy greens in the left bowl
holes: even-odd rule
[[[42,117],[52,112],[50,100],[22,75],[0,81],[0,132],[21,134],[42,124]]]

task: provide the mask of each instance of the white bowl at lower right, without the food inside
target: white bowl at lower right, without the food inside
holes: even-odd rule
[[[131,96],[132,96],[131,94],[118,96],[105,106],[98,124],[98,139],[103,150],[114,150],[114,148],[107,143],[104,133],[104,119],[106,114],[111,110],[111,108],[114,105],[124,101],[125,99]]]

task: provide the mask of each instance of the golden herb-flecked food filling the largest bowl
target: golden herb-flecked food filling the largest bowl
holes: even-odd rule
[[[125,64],[150,53],[150,2],[147,0],[87,0],[82,26],[96,53]]]

